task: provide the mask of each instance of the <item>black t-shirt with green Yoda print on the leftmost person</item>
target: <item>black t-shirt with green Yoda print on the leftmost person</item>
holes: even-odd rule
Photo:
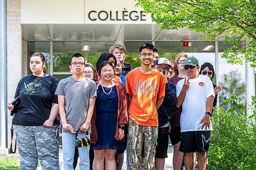
[[[52,104],[58,103],[55,90],[58,81],[52,76],[37,77],[28,75],[22,78],[17,86],[15,98],[21,100],[17,113],[13,118],[14,125],[42,126],[49,118]],[[54,125],[59,124],[54,120]]]

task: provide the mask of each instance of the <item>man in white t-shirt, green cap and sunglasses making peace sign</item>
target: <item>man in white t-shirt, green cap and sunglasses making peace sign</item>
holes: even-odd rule
[[[199,75],[199,63],[195,57],[184,61],[187,78],[177,83],[176,107],[182,106],[180,117],[181,144],[186,170],[192,170],[193,153],[198,152],[199,169],[206,168],[206,151],[209,149],[210,113],[214,102],[214,87],[208,76]]]

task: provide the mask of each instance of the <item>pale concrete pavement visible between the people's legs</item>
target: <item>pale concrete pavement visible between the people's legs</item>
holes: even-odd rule
[[[78,160],[79,161],[79,160]],[[62,147],[59,148],[59,165],[60,169],[63,170],[63,154]],[[40,165],[37,167],[37,170],[41,170]],[[79,169],[79,162],[77,163],[76,170]],[[168,147],[168,158],[165,159],[164,170],[172,170],[173,169],[173,146]],[[124,162],[122,166],[122,170],[127,170],[126,168],[126,151],[124,152]]]

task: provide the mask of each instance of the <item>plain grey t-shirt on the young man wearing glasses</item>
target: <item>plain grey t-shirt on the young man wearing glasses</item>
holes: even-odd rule
[[[71,76],[59,82],[55,94],[64,96],[67,123],[76,132],[86,122],[89,100],[97,95],[95,82],[88,78],[76,81]],[[64,128],[62,132],[70,133]],[[91,125],[88,133],[91,133]]]

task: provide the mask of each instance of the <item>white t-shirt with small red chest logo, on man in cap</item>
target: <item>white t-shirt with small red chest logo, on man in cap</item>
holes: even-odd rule
[[[184,102],[182,104],[182,113],[180,117],[181,132],[187,131],[203,131],[201,120],[205,116],[206,102],[209,96],[214,96],[214,86],[208,76],[199,75],[196,79],[189,79],[189,88],[186,92]],[[184,79],[177,83],[177,96],[180,95]],[[210,129],[212,126],[210,124]]]

